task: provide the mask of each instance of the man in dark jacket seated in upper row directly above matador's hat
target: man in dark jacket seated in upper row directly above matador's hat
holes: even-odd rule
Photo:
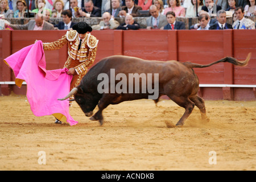
[[[79,10],[78,17],[101,17],[101,9],[94,6],[92,0],[85,0],[84,7],[85,9]]]

